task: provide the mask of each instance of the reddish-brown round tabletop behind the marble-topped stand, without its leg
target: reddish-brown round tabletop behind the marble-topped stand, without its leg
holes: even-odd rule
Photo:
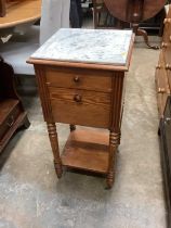
[[[113,16],[123,21],[131,23],[131,17],[128,16],[129,12],[128,9],[130,8],[131,0],[104,0],[108,11],[111,13]],[[136,0],[140,1],[140,0]],[[136,1],[134,1],[136,3]],[[148,20],[154,17],[163,7],[166,0],[142,0],[144,1],[143,5],[143,13],[141,21]],[[137,4],[137,3],[136,3]]]

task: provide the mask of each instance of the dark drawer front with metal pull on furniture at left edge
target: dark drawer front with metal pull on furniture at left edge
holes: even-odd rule
[[[8,130],[15,124],[19,113],[21,109],[17,104],[10,113],[10,115],[5,118],[5,121],[0,125],[0,144]]]

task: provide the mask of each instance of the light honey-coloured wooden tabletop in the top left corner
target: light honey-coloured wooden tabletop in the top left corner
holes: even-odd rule
[[[25,0],[6,7],[6,14],[0,17],[0,29],[14,27],[39,20],[41,16],[41,0]]]

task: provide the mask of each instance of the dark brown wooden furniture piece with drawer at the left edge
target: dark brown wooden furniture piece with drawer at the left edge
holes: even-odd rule
[[[21,126],[29,126],[26,112],[16,93],[12,66],[0,58],[0,152]]]

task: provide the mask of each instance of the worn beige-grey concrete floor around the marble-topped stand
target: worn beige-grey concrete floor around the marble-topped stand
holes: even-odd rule
[[[67,172],[57,180],[35,78],[23,79],[31,126],[0,155],[0,228],[167,227],[154,77],[158,54],[135,45],[111,190],[101,177]],[[57,129],[62,148],[68,126]]]

